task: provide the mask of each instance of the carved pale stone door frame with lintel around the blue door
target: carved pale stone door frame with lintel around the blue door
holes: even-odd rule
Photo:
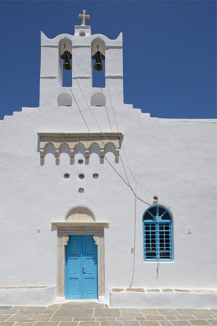
[[[98,245],[98,296],[105,295],[104,226],[106,222],[53,222],[57,226],[57,295],[65,296],[65,246],[69,235],[91,234]]]

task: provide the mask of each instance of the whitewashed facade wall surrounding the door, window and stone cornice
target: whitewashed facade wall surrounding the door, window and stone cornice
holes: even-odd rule
[[[110,288],[127,287],[131,281],[135,181],[129,170],[120,160],[115,162],[109,146],[103,163],[97,145],[92,145],[89,162],[82,166],[77,164],[78,159],[85,160],[80,145],[75,148],[75,162],[70,161],[67,145],[61,147],[59,162],[52,145],[47,145],[45,161],[40,161],[37,132],[100,132],[76,80],[72,88],[58,86],[62,65],[58,44],[65,37],[72,41],[73,67],[89,105],[94,93],[106,96],[105,107],[91,107],[94,116],[104,132],[117,131],[107,89],[91,87],[90,44],[99,37],[105,42],[108,86],[131,170],[173,216],[174,261],[160,263],[157,273],[156,263],[143,262],[142,243],[142,215],[153,205],[153,196],[137,186],[133,287],[214,288],[216,121],[152,118],[123,104],[122,35],[116,40],[103,35],[80,37],[79,28],[75,26],[77,36],[48,39],[42,33],[40,106],[23,108],[1,123],[1,286],[56,285],[57,231],[51,222],[64,221],[68,210],[79,205],[90,208],[96,221],[109,222],[105,297]],[[112,67],[114,57],[118,71]],[[76,70],[82,60],[83,69]],[[72,96],[71,107],[57,106],[63,92]],[[123,149],[120,154],[126,161]],[[63,178],[66,172],[68,180]],[[78,178],[81,172],[84,180]],[[100,176],[96,181],[95,172]],[[84,188],[83,194],[78,193],[79,187]]]

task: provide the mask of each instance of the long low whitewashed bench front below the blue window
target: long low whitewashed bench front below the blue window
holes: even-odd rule
[[[111,292],[111,308],[208,308],[216,309],[216,293]]]

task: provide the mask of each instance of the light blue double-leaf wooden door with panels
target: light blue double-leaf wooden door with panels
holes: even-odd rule
[[[70,235],[66,245],[66,299],[97,299],[97,245],[93,235]]]

